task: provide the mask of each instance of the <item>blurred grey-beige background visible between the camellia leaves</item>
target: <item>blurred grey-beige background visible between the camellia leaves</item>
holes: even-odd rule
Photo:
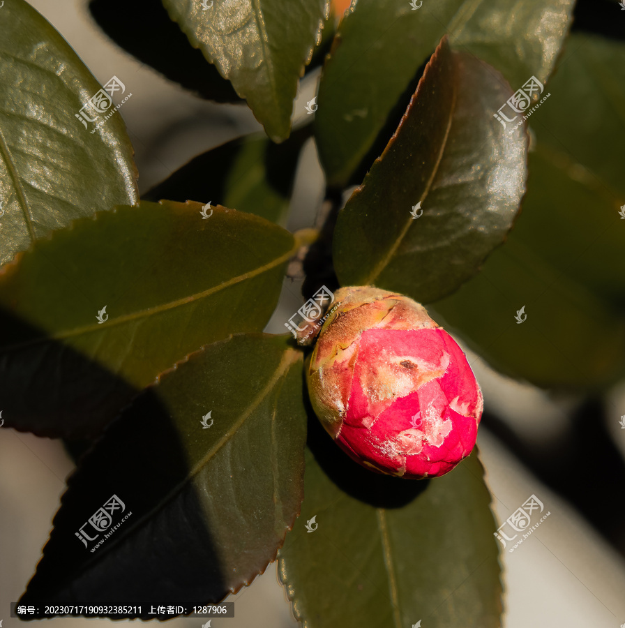
[[[246,105],[197,98],[123,52],[93,21],[84,0],[31,0],[76,50],[101,83],[118,76],[133,93],[119,112],[136,151],[144,193],[202,152],[262,130]],[[113,3],[109,3],[114,6]],[[129,3],[130,4],[130,3]],[[625,17],[610,5],[606,21],[598,2],[580,3],[575,29],[623,38]],[[111,9],[113,10],[113,9]],[[601,13],[601,15],[599,15]],[[129,9],[116,20],[142,20]],[[0,15],[1,18],[1,15]],[[609,31],[609,32],[608,32]],[[163,43],[165,47],[167,43]],[[301,84],[294,108],[315,94],[318,70]],[[621,126],[625,111],[620,111]],[[289,230],[310,226],[322,207],[322,172],[308,141],[298,165]],[[200,202],[211,200],[193,198]],[[266,331],[283,333],[284,321],[301,305],[301,281],[286,278],[280,305]],[[520,304],[519,304],[520,306]],[[467,348],[485,397],[478,444],[500,522],[535,494],[550,517],[515,553],[502,553],[506,588],[504,626],[521,628],[617,628],[625,623],[625,381],[607,396],[550,393],[492,371]],[[14,430],[0,431],[0,620],[13,628],[9,603],[31,578],[73,470],[60,441]],[[252,586],[227,601],[234,618],[211,628],[286,628],[296,625],[278,583],[275,563]],[[59,618],[59,626],[96,627],[107,620]],[[175,627],[207,620],[170,620]],[[425,626],[423,628],[426,628]]]

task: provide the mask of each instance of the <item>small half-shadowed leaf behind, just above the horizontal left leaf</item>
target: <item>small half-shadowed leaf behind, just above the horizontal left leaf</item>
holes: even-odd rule
[[[144,198],[211,200],[285,226],[301,148],[311,126],[294,130],[282,144],[266,135],[226,142],[199,155]]]

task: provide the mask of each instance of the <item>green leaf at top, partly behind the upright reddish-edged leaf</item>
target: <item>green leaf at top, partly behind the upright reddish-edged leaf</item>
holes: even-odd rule
[[[412,10],[408,1],[358,0],[340,24],[340,45],[319,83],[315,137],[331,186],[354,182],[359,166],[377,157],[376,138],[389,122],[395,128],[419,68],[445,33],[453,47],[490,63],[516,90],[532,75],[542,82],[550,75],[573,5],[574,0],[529,0],[522,6],[516,0],[423,0]]]

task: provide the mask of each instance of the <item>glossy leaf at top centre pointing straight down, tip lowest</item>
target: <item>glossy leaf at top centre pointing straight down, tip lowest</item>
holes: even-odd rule
[[[289,136],[293,99],[321,40],[329,0],[163,0],[190,43],[246,98],[274,142]]]

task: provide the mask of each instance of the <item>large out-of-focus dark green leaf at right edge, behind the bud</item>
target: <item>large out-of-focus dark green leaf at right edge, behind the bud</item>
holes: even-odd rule
[[[529,119],[536,150],[508,241],[433,304],[493,366],[544,387],[605,388],[625,374],[624,68],[622,43],[571,37]]]

